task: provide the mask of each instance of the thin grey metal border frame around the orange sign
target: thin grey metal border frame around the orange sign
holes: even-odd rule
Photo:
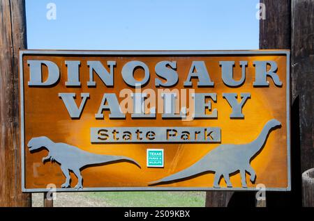
[[[40,55],[92,55],[92,56],[206,56],[206,55],[285,55],[287,57],[286,67],[286,111],[287,111],[287,187],[265,188],[266,191],[290,191],[291,190],[291,156],[290,156],[290,50],[221,50],[221,51],[84,51],[84,50],[45,50],[45,49],[22,49],[19,51],[19,75],[20,75],[20,147],[21,147],[21,184],[23,193],[45,193],[50,188],[25,188],[25,155],[24,155],[24,54]],[[56,192],[89,192],[89,191],[209,191],[209,190],[232,190],[232,191],[256,191],[259,188],[202,188],[202,187],[101,187],[101,188],[56,188]]]

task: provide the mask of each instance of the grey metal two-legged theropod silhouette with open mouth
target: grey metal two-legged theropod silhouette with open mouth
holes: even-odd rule
[[[43,158],[43,163],[51,160],[57,161],[60,164],[61,170],[66,177],[66,182],[61,185],[61,188],[70,187],[70,170],[72,170],[78,179],[75,188],[77,190],[83,188],[83,177],[80,170],[85,166],[110,163],[114,161],[131,161],[140,167],[136,161],[126,156],[92,154],[63,142],[53,142],[45,136],[31,138],[27,147],[29,147],[30,152],[45,147],[49,154]]]

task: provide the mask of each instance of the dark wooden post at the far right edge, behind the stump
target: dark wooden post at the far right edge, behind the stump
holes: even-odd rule
[[[292,101],[299,101],[299,148],[301,150],[301,172],[314,167],[313,145],[313,84],[314,84],[314,0],[292,0],[291,19],[291,76]],[[301,177],[299,178],[301,179]],[[303,205],[308,202],[305,193],[308,186],[303,183]]]

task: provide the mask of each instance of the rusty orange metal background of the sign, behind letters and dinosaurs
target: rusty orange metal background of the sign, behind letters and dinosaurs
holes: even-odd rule
[[[110,52],[108,52],[110,53]],[[138,190],[147,189],[202,189],[214,190],[214,173],[207,172],[205,174],[195,174],[193,177],[161,183],[152,186],[150,183],[158,179],[163,179],[171,174],[184,170],[193,163],[197,162],[207,153],[218,147],[220,144],[241,145],[249,144],[257,136],[260,135],[264,125],[271,119],[276,119],[281,122],[281,128],[272,131],[266,144],[263,146],[261,152],[252,159],[251,166],[254,168],[257,177],[253,180],[253,174],[246,173],[244,179],[246,180],[248,188],[244,187],[243,180],[239,172],[230,174],[230,182],[232,188],[239,190],[255,190],[257,183],[264,183],[269,190],[289,189],[289,162],[287,152],[287,140],[289,134],[287,133],[287,56],[283,54],[254,54],[253,55],[232,55],[237,54],[236,51],[229,52],[228,56],[217,56],[215,54],[197,55],[190,53],[188,56],[183,55],[167,55],[167,51],[162,51],[163,56],[158,54],[145,56],[131,54],[123,56],[123,52],[119,56],[114,55],[71,55],[67,56],[54,55],[40,55],[40,54],[24,54],[22,65],[24,81],[24,154],[25,154],[25,186],[24,188],[31,190],[45,190],[49,183],[54,183],[58,190],[69,190],[68,188],[61,189],[65,177],[61,172],[60,164],[53,163],[51,158],[47,158],[45,164],[42,163],[43,157],[47,156],[47,150],[31,153],[27,147],[31,138],[39,136],[46,136],[53,142],[63,142],[66,145],[73,145],[78,149],[94,154],[107,154],[110,156],[127,156],[135,160],[141,167],[137,167],[130,162],[119,162],[100,166],[91,166],[80,171],[83,177],[84,188],[82,190],[91,190],[89,188],[107,188],[107,190],[114,190],[121,188],[121,190],[130,190],[137,188]],[[136,53],[135,53],[136,54]],[[153,53],[154,54],[154,53]],[[178,52],[180,54],[180,52]],[[188,54],[188,52],[186,53]],[[50,60],[55,63],[60,69],[60,80],[49,87],[33,87],[29,86],[29,65],[28,60]],[[80,86],[67,87],[67,66],[65,60],[80,60]],[[117,64],[114,67],[114,85],[107,87],[94,74],[94,81],[96,87],[89,87],[89,66],[88,60],[100,60],[106,64],[108,60],[114,60]],[[142,90],[151,89],[158,95],[158,88],[155,86],[155,79],[158,79],[154,72],[155,66],[162,60],[175,60],[177,62],[177,72],[179,75],[178,83],[173,87],[176,89],[194,89],[195,93],[216,93],[216,102],[212,101],[211,111],[207,110],[207,114],[216,109],[218,117],[210,119],[194,119],[191,121],[182,121],[179,119],[165,119],[162,114],[157,113],[156,118],[139,118],[134,119],[130,114],[126,114],[125,119],[110,119],[108,111],[103,111],[104,118],[97,119],[99,106],[102,101],[104,93],[112,93],[117,95],[120,102],[119,92],[124,89],[130,89],[135,92],[135,88],[129,87],[121,76],[121,71],[126,63],[132,60],[140,60],[145,63],[150,71],[150,79],[144,85]],[[207,66],[211,81],[214,82],[214,87],[197,87],[197,79],[192,79],[193,88],[184,87],[184,81],[188,77],[188,72],[193,63],[193,60],[202,60]],[[237,64],[234,67],[234,79],[239,80],[241,76],[241,67],[239,62],[246,60],[248,66],[246,67],[246,79],[242,85],[238,87],[227,86],[221,77],[221,67],[219,62],[221,60],[234,60]],[[274,81],[269,78],[269,87],[255,87],[253,82],[256,79],[255,60],[275,60],[278,65],[279,79],[283,85],[274,85]],[[43,67],[43,79],[47,79],[47,69]],[[143,69],[137,69],[135,72],[135,79],[142,79],[144,76]],[[170,88],[172,89],[172,88]],[[77,106],[80,106],[82,98],[81,93],[89,92],[89,99],[84,106],[84,111],[78,119],[72,119],[59,93],[74,92],[76,94]],[[234,119],[230,118],[232,109],[227,100],[223,97],[223,93],[237,93],[240,101],[241,93],[250,92],[251,99],[246,101],[243,108],[244,118]],[[159,104],[156,104],[159,105]],[[158,108],[158,107],[157,107]],[[99,144],[91,143],[90,129],[91,127],[140,127],[140,126],[219,126],[221,129],[221,142],[207,144],[200,143],[116,143],[116,144]],[[237,128],[237,129],[235,129]],[[29,146],[30,147],[30,146]],[[162,168],[147,167],[147,149],[164,149],[165,165]],[[64,164],[64,163],[63,163]],[[224,165],[223,165],[224,167]],[[78,174],[78,173],[77,173]],[[224,176],[225,177],[225,176]],[[243,177],[243,176],[242,176]],[[70,190],[75,190],[77,177],[70,172]],[[226,177],[225,177],[226,178]],[[250,181],[251,179],[251,181]],[[233,190],[227,187],[225,179],[220,179],[220,190]],[[67,186],[67,185],[65,185]],[[230,186],[230,185],[229,185]],[[64,187],[64,186],[63,186]]]

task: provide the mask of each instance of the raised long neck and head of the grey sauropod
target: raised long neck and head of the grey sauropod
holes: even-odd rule
[[[250,158],[254,156],[257,152],[259,152],[260,149],[262,149],[264,143],[267,140],[267,136],[272,128],[273,125],[267,122],[267,124],[265,124],[264,128],[260,132],[260,135],[255,140],[253,140],[253,142],[247,145],[246,154],[248,154]]]

